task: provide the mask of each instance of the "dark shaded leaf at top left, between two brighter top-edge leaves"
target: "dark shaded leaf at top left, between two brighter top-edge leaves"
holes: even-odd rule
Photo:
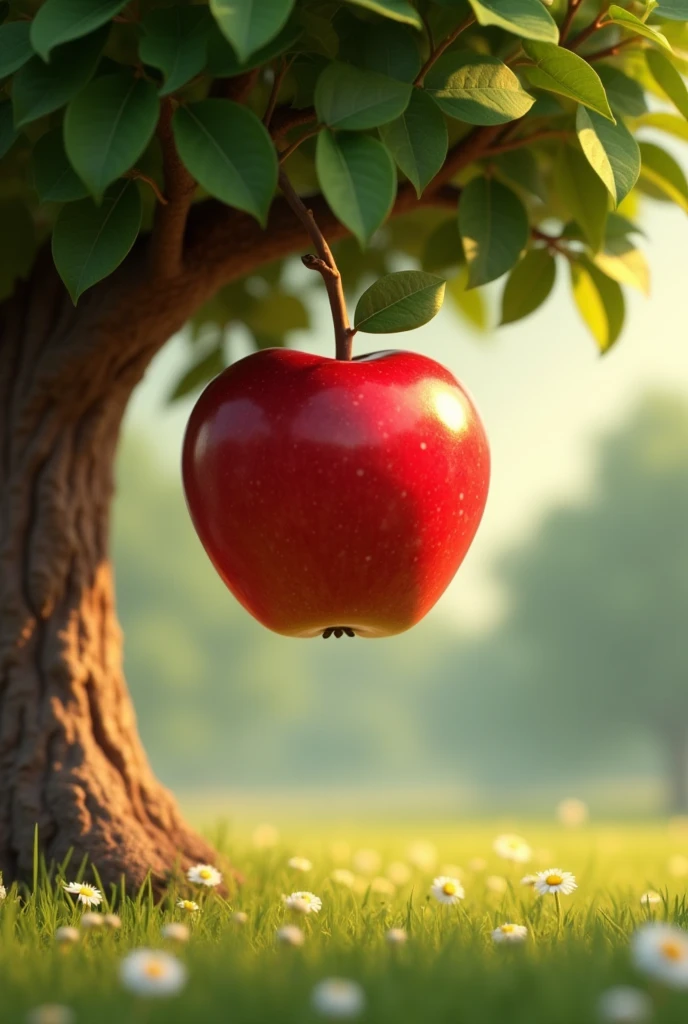
[[[201,6],[163,7],[148,11],[141,24],[138,54],[143,63],[165,76],[159,95],[167,96],[200,74],[206,66],[209,23]]]

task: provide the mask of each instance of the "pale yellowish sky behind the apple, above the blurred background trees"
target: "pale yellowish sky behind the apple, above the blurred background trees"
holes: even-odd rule
[[[370,346],[364,337],[355,339],[358,353],[405,347],[444,364],[472,394],[490,440],[483,522],[433,616],[468,628],[488,626],[500,610],[490,579],[496,557],[535,534],[553,504],[585,495],[596,438],[621,423],[648,390],[670,389],[688,400],[688,218],[675,206],[648,201],[640,223],[648,236],[651,295],[626,289],[627,327],[604,356],[579,319],[561,265],[545,307],[487,336],[471,332],[447,304],[434,321],[402,338],[377,336]],[[295,272],[306,271],[296,266]],[[295,347],[331,354],[325,301],[311,331],[293,337]],[[247,352],[240,345],[232,354]],[[148,434],[161,466],[177,476],[192,399],[170,407],[165,395],[184,359],[182,339],[173,339],[139,386],[125,425]]]

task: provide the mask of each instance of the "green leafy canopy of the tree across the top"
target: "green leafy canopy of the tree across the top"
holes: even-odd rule
[[[688,0],[10,0],[0,15],[0,297],[49,236],[75,302],[113,273],[168,202],[170,146],[196,202],[268,232],[280,167],[320,193],[357,240],[337,248],[349,290],[401,253],[478,325],[472,290],[506,278],[509,324],[566,267],[603,351],[624,288],[648,287],[640,195],[688,212],[657,142],[688,137]],[[368,294],[377,330],[403,287],[383,282],[379,309]],[[396,330],[425,322],[419,296]],[[282,262],[199,311],[177,394],[221,368],[234,324],[258,346],[307,326]]]

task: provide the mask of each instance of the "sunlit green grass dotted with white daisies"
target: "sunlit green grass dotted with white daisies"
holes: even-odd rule
[[[180,893],[202,903],[189,922],[174,906],[176,892],[156,904],[147,887],[134,900],[113,891],[107,908],[121,915],[122,928],[83,932],[69,947],[55,942],[54,932],[78,924],[80,911],[57,874],[37,862],[33,891],[12,889],[0,903],[0,1021],[18,1024],[32,1008],[58,1002],[73,1008],[78,1024],[310,1024],[319,1019],[310,1007],[314,984],[339,976],[362,985],[368,1024],[594,1024],[599,994],[617,984],[648,990],[657,1024],[684,1024],[688,991],[660,988],[638,975],[629,936],[652,919],[688,926],[687,880],[669,869],[670,857],[688,852],[688,835],[666,825],[566,831],[521,824],[518,830],[535,851],[523,867],[492,853],[492,840],[503,830],[512,829],[501,823],[348,836],[310,829],[287,835],[267,850],[256,849],[248,835],[225,831],[224,849],[247,878],[229,900],[214,891],[192,895],[191,887],[181,886]],[[335,866],[351,866],[361,847],[380,854],[384,874],[391,861],[405,860],[419,838],[436,846],[436,870],[462,868],[466,899],[458,906],[428,899],[435,873],[429,866],[414,868],[394,895],[362,883],[352,891],[330,880]],[[294,854],[309,857],[312,871],[289,869]],[[485,867],[472,864],[475,858]],[[552,865],[573,871],[578,882],[577,891],[562,898],[561,926],[552,897],[519,885],[526,869]],[[67,873],[71,879],[77,871]],[[489,876],[505,878],[507,891],[490,890]],[[89,867],[83,877],[97,879]],[[662,903],[644,907],[640,896],[650,888],[662,893]],[[275,929],[294,920],[281,896],[298,889],[319,895],[322,910],[297,920],[306,932],[302,948],[278,946]],[[246,925],[232,921],[236,909],[247,912]],[[191,925],[185,945],[161,938],[162,924],[174,920]],[[491,930],[505,921],[527,926],[525,945],[494,945]],[[405,946],[386,943],[391,927],[406,929]],[[143,999],[123,989],[119,964],[140,946],[168,948],[187,964],[188,984],[179,995]]]

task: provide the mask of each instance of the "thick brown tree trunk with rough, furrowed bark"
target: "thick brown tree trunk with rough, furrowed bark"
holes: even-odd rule
[[[88,855],[105,884],[211,860],[154,777],[122,673],[109,559],[122,416],[183,323],[103,330],[47,262],[0,310],[0,869]],[[117,305],[115,301],[115,305]],[[154,301],[155,306],[155,301]]]

